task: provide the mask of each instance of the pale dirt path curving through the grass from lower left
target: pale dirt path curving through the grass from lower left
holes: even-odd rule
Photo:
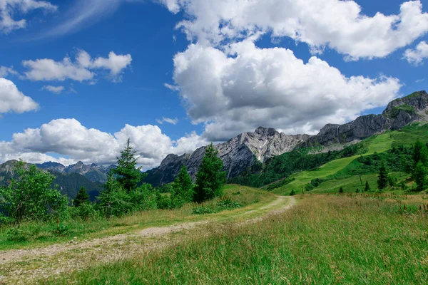
[[[278,212],[284,212],[295,205],[294,197],[280,196],[264,207],[255,209],[260,216],[246,219],[237,226],[259,222]],[[248,214],[246,212],[244,214]],[[100,239],[54,244],[36,249],[14,249],[0,252],[0,284],[24,284],[31,280],[61,274],[66,271],[85,269],[88,264],[118,261],[172,246],[180,241],[180,234],[186,234],[195,227],[216,220],[177,224],[168,227],[151,227],[139,232],[117,234]],[[2,283],[3,282],[3,283]],[[6,283],[4,283],[6,282]]]

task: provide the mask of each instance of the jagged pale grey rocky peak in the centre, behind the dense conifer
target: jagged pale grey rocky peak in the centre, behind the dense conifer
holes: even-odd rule
[[[215,145],[215,149],[218,150],[218,157],[223,160],[223,170],[230,178],[239,175],[256,161],[265,162],[272,156],[290,152],[309,137],[285,135],[272,128],[260,127],[254,133],[241,133],[228,142]],[[204,154],[205,147],[200,147],[190,155],[168,155],[161,166],[147,172],[146,182],[153,185],[173,182],[182,165],[188,168],[190,176],[195,179]]]

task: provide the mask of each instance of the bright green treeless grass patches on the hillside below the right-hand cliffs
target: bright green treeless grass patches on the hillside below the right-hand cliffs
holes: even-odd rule
[[[364,155],[372,155],[374,152],[384,152],[389,150],[392,146],[409,146],[418,139],[428,140],[428,124],[420,125],[419,123],[414,123],[403,128],[402,130],[388,131],[382,135],[374,136],[368,139],[370,141],[370,145],[368,147],[367,153]],[[307,185],[307,183],[310,183],[311,180],[335,175],[337,172],[340,172],[340,170],[344,170],[345,167],[349,167],[350,164],[359,156],[360,155],[356,155],[353,157],[342,158],[340,160],[334,160],[323,165],[318,170],[296,173],[295,175],[292,175],[292,177],[295,178],[293,182],[283,187],[277,188],[273,192],[280,195],[289,195],[292,190],[295,190],[295,192],[301,192],[302,187]],[[396,172],[392,173],[392,177],[397,177],[397,180],[401,181],[407,178],[407,175],[402,172]],[[363,183],[365,183],[367,180],[372,187],[372,190],[377,188],[377,175],[364,175],[362,180]],[[312,191],[318,193],[337,192],[340,187],[344,187],[345,191],[355,191],[357,187],[360,189],[364,188],[364,186],[361,185],[360,177],[358,176],[345,177],[342,179],[323,182],[320,186]]]

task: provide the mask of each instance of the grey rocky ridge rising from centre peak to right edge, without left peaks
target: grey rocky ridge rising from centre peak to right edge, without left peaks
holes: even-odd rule
[[[381,115],[364,115],[344,125],[327,124],[317,135],[285,135],[272,128],[258,128],[254,133],[241,133],[228,142],[215,145],[215,148],[223,160],[223,170],[228,178],[232,178],[256,162],[265,162],[270,157],[297,148],[335,145],[335,149],[340,150],[344,145],[386,130],[397,130],[414,121],[428,121],[428,94],[425,91],[393,100]],[[195,179],[205,148],[200,147],[181,156],[168,155],[161,166],[146,172],[145,182],[152,185],[173,182],[182,165],[188,167],[189,174]]]

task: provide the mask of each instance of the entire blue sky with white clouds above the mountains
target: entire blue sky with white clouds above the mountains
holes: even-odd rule
[[[0,163],[315,135],[426,90],[427,32],[428,0],[0,0]]]

